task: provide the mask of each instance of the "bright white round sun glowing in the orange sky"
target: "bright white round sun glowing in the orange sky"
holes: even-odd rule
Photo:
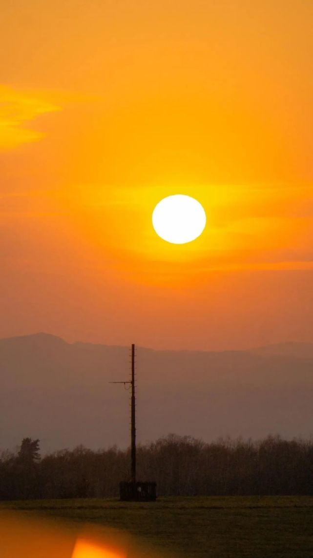
[[[192,242],[203,232],[206,222],[206,212],[199,201],[183,194],[163,198],[152,214],[156,234],[172,244]]]

